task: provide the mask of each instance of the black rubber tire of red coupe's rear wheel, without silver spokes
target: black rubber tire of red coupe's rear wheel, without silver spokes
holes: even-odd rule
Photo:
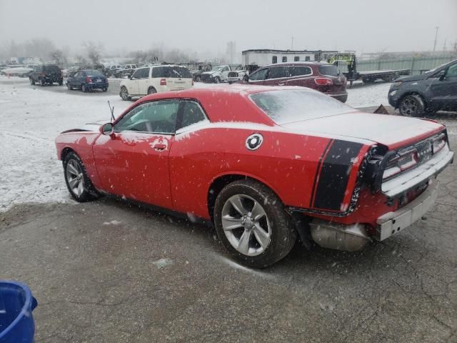
[[[229,199],[238,196],[246,197],[246,202],[252,202],[253,204],[257,202],[258,204],[261,204],[266,217],[264,220],[268,220],[270,224],[268,245],[266,245],[265,248],[261,247],[261,253],[254,256],[238,252],[224,232],[222,224],[223,211],[225,210],[224,206],[229,204]],[[246,204],[246,206],[248,206],[248,204]],[[248,213],[248,215],[250,215],[251,212]],[[231,182],[231,184],[224,187],[218,194],[216,203],[214,204],[214,226],[216,227],[219,239],[226,249],[229,250],[231,256],[241,264],[253,268],[265,268],[286,257],[287,254],[291,252],[297,237],[296,230],[291,223],[291,217],[286,213],[286,209],[281,202],[281,199],[264,184],[250,179]],[[251,230],[252,228],[253,227],[251,227]],[[240,236],[238,243],[241,245],[241,236],[243,236],[244,233],[240,232],[246,232],[247,229],[245,229],[245,227],[239,227],[236,230],[238,230]],[[228,231],[233,232],[233,236],[236,234],[234,232],[235,229]],[[255,229],[253,231],[255,231]],[[250,237],[248,241],[254,245],[256,242],[257,244],[260,242],[256,239],[255,233],[248,237]],[[255,241],[253,241],[253,237],[255,238]],[[255,249],[255,247],[253,249]]]

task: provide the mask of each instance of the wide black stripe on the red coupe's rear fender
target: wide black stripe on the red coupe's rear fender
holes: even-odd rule
[[[316,188],[314,208],[341,211],[341,203],[348,186],[353,158],[358,155],[363,144],[336,139],[322,164]]]

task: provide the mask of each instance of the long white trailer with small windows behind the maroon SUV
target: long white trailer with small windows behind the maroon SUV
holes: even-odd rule
[[[266,66],[268,64],[294,62],[294,61],[326,61],[328,55],[337,54],[336,50],[273,50],[273,49],[249,49],[242,51],[243,65],[256,64]]]

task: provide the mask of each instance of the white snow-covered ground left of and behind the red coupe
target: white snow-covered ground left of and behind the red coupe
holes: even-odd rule
[[[355,84],[348,89],[348,104],[387,104],[388,87]],[[108,100],[115,115],[131,104],[117,95],[55,92],[0,76],[0,212],[24,202],[71,201],[54,138],[81,124],[109,121]]]

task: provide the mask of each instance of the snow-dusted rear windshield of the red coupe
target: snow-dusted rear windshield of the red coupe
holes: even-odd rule
[[[352,107],[330,96],[304,89],[263,91],[251,94],[251,99],[277,124],[354,111]]]

